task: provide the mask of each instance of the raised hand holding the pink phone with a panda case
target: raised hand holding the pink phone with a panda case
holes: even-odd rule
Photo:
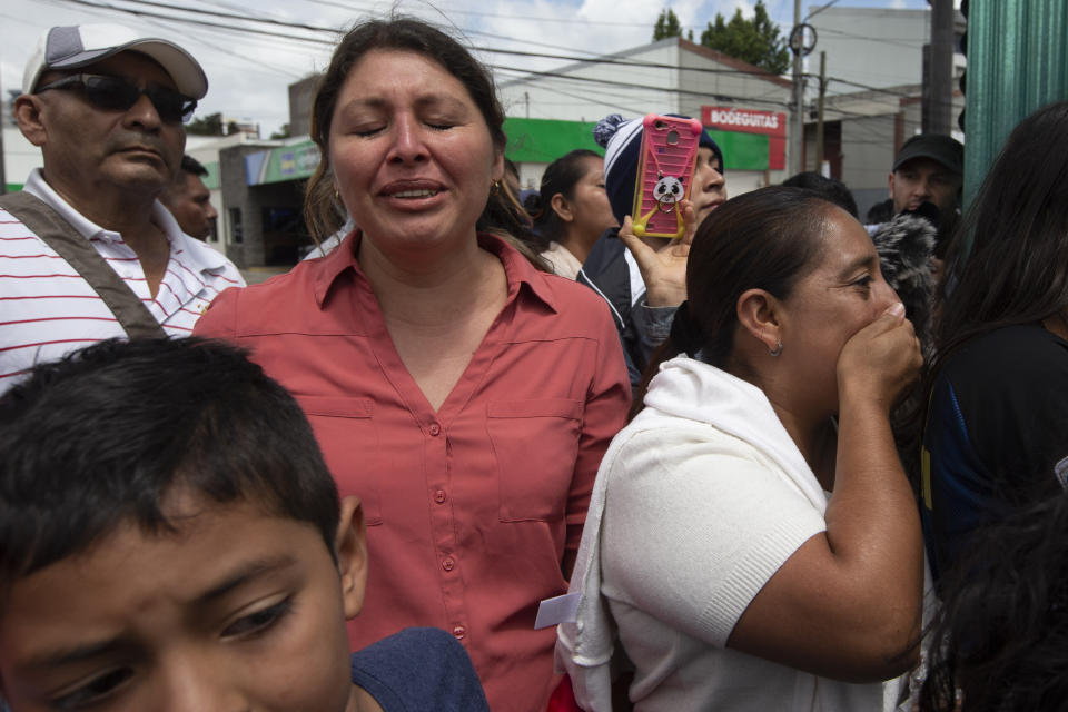
[[[645,281],[645,303],[651,307],[676,307],[686,298],[686,258],[698,231],[698,219],[690,200],[680,201],[679,209],[684,231],[676,240],[637,237],[631,216],[623,218],[620,227],[620,239],[637,263]]]

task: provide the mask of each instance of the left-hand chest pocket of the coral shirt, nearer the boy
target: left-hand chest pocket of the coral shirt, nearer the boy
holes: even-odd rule
[[[315,431],[340,496],[356,495],[364,522],[382,524],[378,477],[383,476],[374,402],[344,396],[296,396]]]

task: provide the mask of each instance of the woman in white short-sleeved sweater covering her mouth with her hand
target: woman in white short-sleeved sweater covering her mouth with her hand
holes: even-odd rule
[[[921,356],[871,239],[756,190],[701,225],[686,288],[597,475],[557,645],[578,702],[892,708],[923,553],[888,414]]]

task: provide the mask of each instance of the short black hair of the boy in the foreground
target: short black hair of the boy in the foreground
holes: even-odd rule
[[[250,502],[334,552],[337,490],[293,396],[200,338],[101,342],[0,398],[0,594],[120,524],[174,531],[167,497]]]

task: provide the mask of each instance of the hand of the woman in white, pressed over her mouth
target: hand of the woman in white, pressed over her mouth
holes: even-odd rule
[[[923,365],[920,340],[898,301],[857,332],[838,357],[839,398],[867,398],[887,413]]]

